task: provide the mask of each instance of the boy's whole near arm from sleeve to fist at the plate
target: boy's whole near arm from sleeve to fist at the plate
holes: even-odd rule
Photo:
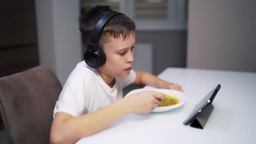
[[[147,113],[158,107],[164,94],[143,91],[115,101],[98,111],[72,117],[57,112],[50,132],[51,144],[73,144],[82,137],[95,134],[128,113]]]

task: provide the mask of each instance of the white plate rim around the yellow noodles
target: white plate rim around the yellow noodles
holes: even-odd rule
[[[161,89],[161,88],[153,88],[153,89],[139,88],[139,89],[132,90],[132,91],[129,92],[127,95],[125,95],[125,97],[127,97],[127,96],[129,96],[129,95],[132,95],[132,94],[135,94],[135,93],[138,93],[138,92],[141,92],[141,91],[148,91],[148,90],[156,91],[156,92],[162,92],[162,93],[164,93],[164,94],[174,96],[175,98],[178,98],[178,100],[180,101],[180,102],[179,102],[178,104],[176,104],[176,105],[171,105],[171,106],[167,106],[167,107],[158,107],[158,108],[155,108],[154,111],[152,111],[152,112],[169,111],[169,110],[171,110],[171,109],[180,107],[181,105],[184,104],[184,102],[185,102],[185,100],[186,100],[185,94],[184,94],[183,92],[176,91],[176,90],[171,90],[171,89]]]

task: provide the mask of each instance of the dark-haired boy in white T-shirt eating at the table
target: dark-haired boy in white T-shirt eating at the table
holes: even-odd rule
[[[108,13],[113,13],[110,7],[97,5],[80,17],[79,29],[87,49],[92,45],[90,35],[94,27]],[[69,75],[53,112],[52,144],[75,143],[82,137],[98,133],[129,113],[153,111],[164,99],[164,94],[154,91],[122,98],[122,88],[127,85],[151,85],[183,91],[180,85],[131,69],[135,24],[127,16],[117,14],[111,17],[97,39],[98,42],[94,44],[98,45],[99,51],[103,50],[105,62],[91,65],[90,62],[95,61],[87,56],[90,48],[85,52],[85,61],[79,62]]]

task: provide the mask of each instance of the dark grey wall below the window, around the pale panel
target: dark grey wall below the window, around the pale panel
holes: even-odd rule
[[[153,73],[167,67],[186,67],[187,31],[137,31],[136,43],[153,45]]]

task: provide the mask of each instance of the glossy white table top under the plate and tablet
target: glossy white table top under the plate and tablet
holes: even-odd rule
[[[256,144],[256,73],[167,68],[158,77],[183,87],[183,106],[126,115],[77,144]],[[217,84],[221,88],[204,129],[184,125],[194,106]]]

